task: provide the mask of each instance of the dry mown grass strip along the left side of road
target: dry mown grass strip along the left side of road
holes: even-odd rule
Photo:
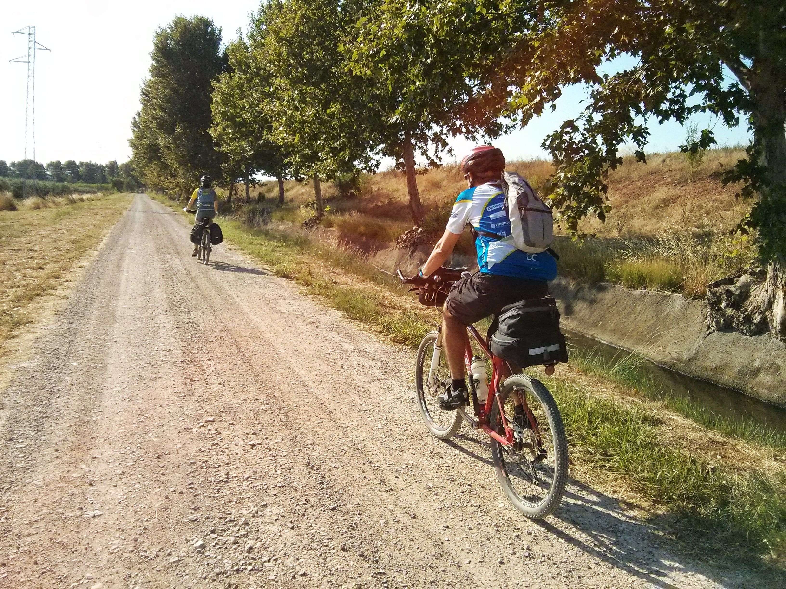
[[[79,198],[79,197],[78,197]],[[24,210],[0,210],[0,351],[28,324],[32,304],[57,288],[105,236],[130,195],[26,199]]]

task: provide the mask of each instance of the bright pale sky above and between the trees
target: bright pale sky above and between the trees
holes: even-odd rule
[[[150,63],[152,35],[174,16],[200,14],[222,27],[224,42],[248,27],[255,0],[38,0],[0,2],[0,159],[22,159],[26,65],[8,60],[27,53],[27,38],[11,31],[36,27],[37,39],[49,51],[36,55],[35,156],[39,162],[75,159],[104,163],[130,157],[130,120],[139,108],[139,88]],[[550,131],[576,113],[580,90],[567,90],[556,112],[526,129],[494,141],[509,159],[544,156],[540,144]],[[714,119],[697,119],[712,125]],[[747,141],[744,129],[717,123],[721,144]],[[648,151],[676,149],[685,130],[676,123],[653,129]],[[458,154],[468,141],[452,141]],[[31,155],[28,153],[28,155]]]

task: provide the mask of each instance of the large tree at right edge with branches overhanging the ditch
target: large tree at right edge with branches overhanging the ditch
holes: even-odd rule
[[[395,2],[396,0],[388,0]],[[388,3],[386,2],[386,4]],[[413,6],[421,6],[413,2]],[[471,9],[456,19],[461,9]],[[482,23],[479,21],[483,21]],[[507,104],[522,125],[555,107],[566,86],[586,85],[586,109],[547,137],[556,171],[549,197],[567,229],[588,214],[604,220],[606,177],[622,158],[624,141],[646,161],[648,123],[685,123],[697,112],[728,125],[747,122],[747,158],[725,181],[742,183],[753,198],[740,225],[758,243],[764,280],[744,276],[709,293],[715,327],[747,334],[770,331],[786,339],[786,7],[770,0],[443,0],[420,21],[461,28],[466,46],[487,42],[483,104]],[[487,24],[490,31],[483,31]],[[500,31],[505,31],[504,35]],[[619,57],[633,65],[604,73]],[[727,75],[728,74],[728,75]],[[733,80],[729,80],[729,75]],[[472,77],[472,72],[468,72]],[[711,129],[686,152],[708,148]],[[725,291],[723,290],[725,289]],[[713,297],[716,300],[713,301]]]

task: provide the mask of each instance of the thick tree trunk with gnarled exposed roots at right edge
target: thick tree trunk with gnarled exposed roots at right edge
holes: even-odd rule
[[[745,86],[753,101],[755,141],[762,146],[758,161],[766,169],[766,186],[758,194],[759,206],[769,210],[769,199],[786,192],[786,68],[775,60],[762,59],[747,72]],[[769,207],[768,207],[769,204]],[[786,236],[760,238],[779,240],[776,251],[784,251]],[[766,269],[737,279],[719,280],[707,288],[707,324],[714,329],[733,329],[744,335],[769,333],[786,341],[786,260],[776,254]]]

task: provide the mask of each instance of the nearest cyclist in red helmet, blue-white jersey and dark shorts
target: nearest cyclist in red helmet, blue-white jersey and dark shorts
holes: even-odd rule
[[[444,410],[462,407],[469,401],[464,362],[466,326],[525,298],[545,297],[549,294],[548,281],[556,278],[556,259],[549,252],[528,254],[498,239],[511,234],[501,188],[504,170],[505,156],[492,145],[476,147],[461,160],[468,188],[458,195],[445,232],[420,272],[420,276],[428,277],[439,269],[450,258],[465,226],[472,226],[479,271],[454,284],[443,307],[443,345],[453,381],[438,397]]]

